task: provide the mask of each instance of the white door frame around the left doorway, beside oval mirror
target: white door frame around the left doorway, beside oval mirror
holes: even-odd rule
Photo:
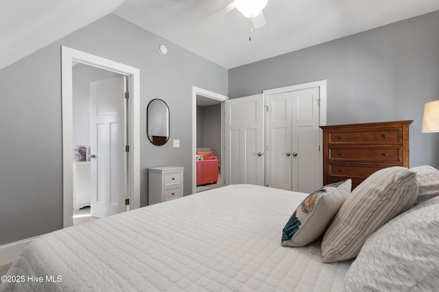
[[[72,62],[128,77],[128,189],[130,209],[140,207],[140,70],[110,59],[61,46],[62,92],[62,227],[73,225],[73,79]]]

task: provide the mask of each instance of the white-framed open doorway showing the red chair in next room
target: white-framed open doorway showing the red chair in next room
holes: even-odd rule
[[[192,192],[224,185],[224,101],[228,96],[193,87]]]

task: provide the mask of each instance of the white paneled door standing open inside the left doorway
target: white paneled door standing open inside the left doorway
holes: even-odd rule
[[[126,211],[125,77],[91,83],[91,215]]]

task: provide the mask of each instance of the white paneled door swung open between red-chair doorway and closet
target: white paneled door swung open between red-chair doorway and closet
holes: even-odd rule
[[[230,99],[224,104],[226,185],[263,185],[263,95]]]

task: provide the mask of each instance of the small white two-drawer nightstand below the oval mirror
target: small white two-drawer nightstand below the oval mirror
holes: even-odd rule
[[[183,196],[183,170],[179,166],[161,166],[148,169],[148,204],[174,200]]]

